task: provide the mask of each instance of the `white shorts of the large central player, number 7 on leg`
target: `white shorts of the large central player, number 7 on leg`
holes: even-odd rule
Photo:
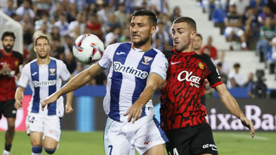
[[[159,122],[153,116],[139,118],[132,122],[114,121],[107,118],[104,129],[104,150],[106,155],[144,154],[150,147],[168,141]]]

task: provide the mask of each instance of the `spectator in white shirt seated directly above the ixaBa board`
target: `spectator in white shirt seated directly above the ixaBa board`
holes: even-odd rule
[[[235,63],[233,67],[234,70],[228,75],[227,87],[229,89],[234,85],[236,87],[242,87],[246,83],[244,76],[239,72],[241,65],[239,65],[239,63]]]

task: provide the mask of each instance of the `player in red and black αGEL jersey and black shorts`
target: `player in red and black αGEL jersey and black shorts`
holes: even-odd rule
[[[206,109],[201,104],[201,87],[208,79],[230,112],[249,128],[253,123],[239,109],[237,101],[222,84],[215,65],[207,56],[194,52],[196,23],[189,17],[179,17],[172,24],[174,48],[164,52],[168,59],[166,86],[161,90],[161,127],[169,142],[168,154],[217,154],[212,130],[206,121]]]

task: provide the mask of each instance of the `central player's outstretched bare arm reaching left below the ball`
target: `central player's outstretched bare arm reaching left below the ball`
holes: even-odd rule
[[[66,85],[63,85],[60,90],[50,95],[46,100],[41,101],[42,110],[49,103],[53,103],[59,99],[59,96],[66,94],[68,92],[72,92],[73,90],[77,90],[79,87],[85,85],[90,80],[92,80],[97,74],[103,72],[104,68],[101,68],[98,63],[95,65],[91,65],[90,68],[83,70],[76,76],[72,78]]]

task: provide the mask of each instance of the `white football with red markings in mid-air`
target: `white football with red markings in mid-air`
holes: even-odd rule
[[[74,42],[73,54],[77,61],[89,65],[101,59],[103,42],[95,34],[81,34]]]

